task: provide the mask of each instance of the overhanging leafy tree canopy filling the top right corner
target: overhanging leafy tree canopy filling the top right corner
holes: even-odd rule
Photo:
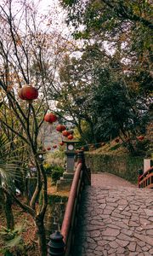
[[[142,93],[150,93],[153,29],[150,1],[61,0],[60,3],[67,11],[67,22],[75,28],[75,37],[84,38],[86,43],[92,39],[116,53],[120,65],[126,64],[125,71],[133,73],[136,87],[139,84]]]

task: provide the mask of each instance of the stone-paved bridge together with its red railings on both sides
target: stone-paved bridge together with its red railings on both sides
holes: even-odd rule
[[[140,189],[150,188],[152,171],[139,175],[139,188],[109,173],[92,174],[90,184],[80,155],[61,234],[51,236],[48,255],[153,255],[153,189]]]

